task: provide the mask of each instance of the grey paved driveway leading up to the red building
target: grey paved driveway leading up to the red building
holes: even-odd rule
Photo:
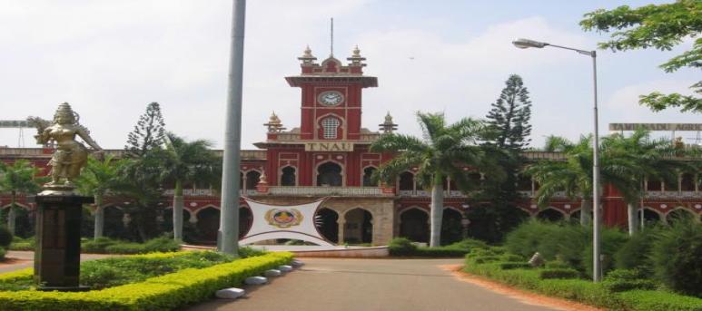
[[[242,298],[213,300],[190,310],[555,310],[461,282],[440,268],[461,259],[302,261],[304,267],[269,285],[246,287]]]

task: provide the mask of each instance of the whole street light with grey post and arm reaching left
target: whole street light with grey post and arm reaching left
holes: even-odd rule
[[[529,47],[543,48],[544,46],[553,46],[560,49],[575,51],[592,58],[592,80],[595,104],[593,107],[595,131],[593,132],[594,141],[592,141],[592,280],[599,282],[602,279],[602,267],[600,258],[600,243],[599,243],[599,131],[598,131],[598,54],[595,51],[585,51],[572,47],[561,46],[556,44],[547,44],[529,39],[517,39],[512,42],[514,46],[520,49]]]

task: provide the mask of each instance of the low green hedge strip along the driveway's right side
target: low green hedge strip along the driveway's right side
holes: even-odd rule
[[[702,299],[666,291],[630,290],[615,293],[601,283],[568,278],[542,279],[544,269],[503,269],[505,262],[476,263],[475,257],[466,257],[463,271],[488,277],[512,287],[519,287],[547,296],[557,296],[590,306],[628,311],[702,311]],[[553,269],[546,269],[553,270]]]

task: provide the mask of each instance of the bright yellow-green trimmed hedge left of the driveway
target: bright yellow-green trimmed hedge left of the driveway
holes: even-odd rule
[[[242,284],[246,277],[259,276],[263,271],[288,264],[292,253],[269,253],[230,263],[188,268],[140,283],[110,287],[88,292],[41,292],[25,290],[0,292],[2,310],[171,310],[211,298],[225,287]],[[2,275],[7,280],[31,274],[25,269]]]

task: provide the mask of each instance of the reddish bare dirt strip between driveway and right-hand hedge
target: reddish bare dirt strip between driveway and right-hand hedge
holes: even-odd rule
[[[480,287],[488,288],[491,291],[497,292],[502,295],[507,295],[513,297],[525,304],[534,306],[548,306],[556,308],[559,310],[567,311],[600,311],[594,306],[587,306],[583,304],[578,304],[577,302],[572,302],[566,299],[560,299],[550,296],[543,296],[528,291],[520,290],[514,287],[509,287],[499,282],[495,282],[484,277],[473,276],[469,273],[461,271],[463,266],[461,265],[442,265],[439,266],[442,270],[450,271],[451,274],[460,279],[462,282],[468,282],[475,284]]]

